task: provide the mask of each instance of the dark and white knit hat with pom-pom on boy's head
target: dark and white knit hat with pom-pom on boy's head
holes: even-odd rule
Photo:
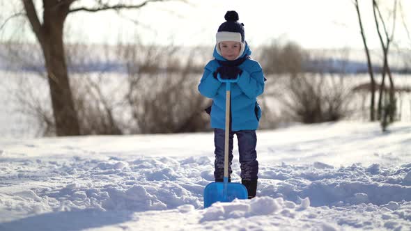
[[[217,52],[218,54],[222,54],[221,50],[219,49],[219,42],[224,41],[235,41],[240,42],[241,49],[240,55],[237,58],[240,58],[242,53],[245,49],[245,33],[244,33],[244,24],[238,22],[238,13],[234,10],[227,11],[226,15],[224,15],[224,19],[226,22],[223,22],[215,35],[216,43],[217,43]]]

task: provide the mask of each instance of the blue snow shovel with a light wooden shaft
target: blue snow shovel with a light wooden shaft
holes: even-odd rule
[[[238,76],[240,77],[240,76]],[[235,198],[248,199],[247,189],[243,184],[228,182],[228,134],[230,132],[230,88],[231,83],[236,83],[237,79],[222,79],[217,74],[217,79],[226,83],[226,137],[224,141],[224,182],[212,182],[204,189],[204,208],[210,207],[212,203],[231,202]]]

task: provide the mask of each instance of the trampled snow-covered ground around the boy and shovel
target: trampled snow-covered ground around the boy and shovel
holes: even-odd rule
[[[411,229],[409,122],[385,134],[362,122],[258,131],[258,196],[203,209],[212,141],[0,138],[0,230]]]

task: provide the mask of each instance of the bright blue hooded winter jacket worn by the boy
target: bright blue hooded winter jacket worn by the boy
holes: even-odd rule
[[[251,55],[251,50],[245,43],[245,50],[240,58]],[[204,67],[204,74],[199,84],[201,95],[212,99],[211,127],[225,129],[226,116],[226,83],[221,83],[213,77],[219,67],[219,61],[227,61],[214,49],[215,59]],[[216,60],[217,59],[217,60]],[[247,58],[238,66],[242,70],[237,83],[231,83],[231,130],[256,130],[261,118],[261,109],[256,97],[264,91],[264,74],[261,65]]]

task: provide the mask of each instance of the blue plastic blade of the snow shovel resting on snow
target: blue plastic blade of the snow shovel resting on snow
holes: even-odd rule
[[[204,189],[204,208],[210,207],[212,203],[231,202],[235,198],[248,199],[247,189],[240,183],[212,182]]]

